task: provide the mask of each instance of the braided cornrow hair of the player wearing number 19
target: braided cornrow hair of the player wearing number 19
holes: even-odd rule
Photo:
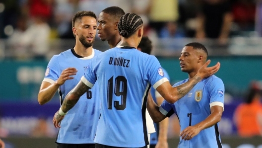
[[[143,24],[141,17],[135,13],[122,15],[118,23],[118,31],[121,36],[128,38]]]

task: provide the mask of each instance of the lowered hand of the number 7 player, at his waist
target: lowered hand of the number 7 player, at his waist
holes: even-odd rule
[[[182,140],[191,140],[193,137],[195,137],[199,132],[201,131],[200,128],[196,126],[189,126],[186,129],[184,129],[180,133],[180,137],[182,137]]]

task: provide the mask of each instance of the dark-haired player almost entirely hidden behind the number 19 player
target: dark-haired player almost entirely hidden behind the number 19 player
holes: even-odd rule
[[[150,55],[152,50],[152,42],[149,40],[148,37],[142,37],[137,49],[143,53]],[[168,78],[168,80],[170,80],[170,77],[165,69],[163,69],[163,72],[165,76]],[[151,87],[150,93],[152,95],[153,100],[158,105],[161,105],[161,103],[164,101],[164,98],[153,87]],[[168,121],[169,119],[166,118],[163,121],[159,122],[159,124],[154,123],[156,132],[150,134],[151,136],[150,136],[149,148],[168,148],[168,143],[167,143]]]

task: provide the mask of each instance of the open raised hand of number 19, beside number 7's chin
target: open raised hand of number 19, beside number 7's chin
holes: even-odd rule
[[[197,75],[200,76],[201,78],[209,77],[213,74],[215,74],[219,68],[220,68],[220,63],[217,62],[215,66],[212,67],[207,67],[210,64],[210,60],[207,60],[206,63],[198,70]]]

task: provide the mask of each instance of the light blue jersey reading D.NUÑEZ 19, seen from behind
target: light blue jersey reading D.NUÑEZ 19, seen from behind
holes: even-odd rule
[[[148,145],[147,94],[151,85],[157,88],[168,81],[154,56],[118,46],[95,57],[81,80],[89,87],[96,82],[100,88],[102,109],[95,143],[125,148]]]

